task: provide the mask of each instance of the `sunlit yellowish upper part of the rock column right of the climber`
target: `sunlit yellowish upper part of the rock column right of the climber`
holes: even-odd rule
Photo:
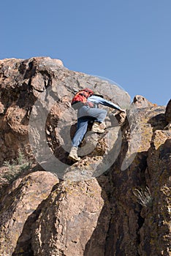
[[[126,170],[138,152],[148,151],[153,130],[164,129],[164,107],[132,108],[127,111],[129,134],[126,134],[128,148],[121,170]]]

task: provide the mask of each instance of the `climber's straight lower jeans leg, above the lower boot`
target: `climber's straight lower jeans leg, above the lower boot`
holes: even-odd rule
[[[72,139],[72,146],[78,147],[86,134],[88,127],[88,118],[78,118],[77,119],[77,131]]]

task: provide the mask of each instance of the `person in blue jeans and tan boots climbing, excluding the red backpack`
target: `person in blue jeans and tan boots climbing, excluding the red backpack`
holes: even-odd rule
[[[115,105],[113,102],[110,102],[103,98],[102,95],[92,94],[88,97],[85,104],[80,105],[80,108],[77,109],[77,130],[75,136],[72,139],[72,148],[69,153],[69,159],[77,162],[80,160],[80,157],[77,156],[77,148],[83,140],[84,135],[86,134],[88,122],[94,121],[94,124],[91,128],[92,132],[103,133],[104,129],[100,127],[100,124],[104,121],[104,118],[107,115],[107,111],[104,109],[98,108],[98,105],[104,105],[110,108],[119,110],[120,112],[125,112],[118,105]]]

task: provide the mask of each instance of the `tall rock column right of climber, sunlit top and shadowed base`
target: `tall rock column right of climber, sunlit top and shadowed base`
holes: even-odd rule
[[[107,256],[138,255],[139,230],[144,219],[140,216],[140,206],[136,204],[133,192],[135,188],[145,187],[145,170],[153,131],[164,125],[164,108],[153,106],[141,109],[134,106],[127,111],[121,151],[110,174],[114,195],[110,197],[110,204],[115,214],[110,219]]]

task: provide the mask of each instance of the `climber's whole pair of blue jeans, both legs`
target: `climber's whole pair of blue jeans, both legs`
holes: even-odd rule
[[[78,147],[86,134],[88,121],[98,121],[102,123],[107,115],[107,111],[100,108],[89,108],[83,106],[77,112],[77,131],[72,139],[72,146]]]

